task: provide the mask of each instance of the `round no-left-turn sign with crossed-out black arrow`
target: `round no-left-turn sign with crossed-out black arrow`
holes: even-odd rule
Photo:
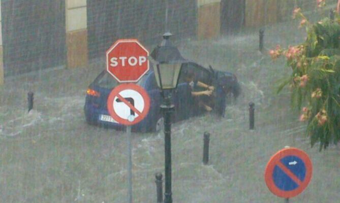
[[[110,116],[120,124],[134,125],[142,121],[150,109],[147,92],[135,84],[121,84],[115,87],[107,99]],[[134,117],[130,120],[131,115]]]

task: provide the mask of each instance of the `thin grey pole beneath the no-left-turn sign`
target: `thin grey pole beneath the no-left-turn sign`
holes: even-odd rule
[[[129,116],[129,121],[135,120],[133,115]],[[131,147],[131,125],[127,126],[127,143],[128,143],[128,202],[132,203],[132,147]]]

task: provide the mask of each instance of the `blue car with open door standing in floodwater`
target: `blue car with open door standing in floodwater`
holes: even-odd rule
[[[236,76],[229,72],[215,71],[211,66],[206,69],[190,61],[182,64],[177,88],[172,93],[172,104],[175,105],[172,121],[185,120],[204,113],[204,110],[197,109],[195,99],[191,95],[191,87],[183,77],[183,73],[187,71],[194,72],[198,81],[215,87],[214,93],[207,100],[210,102],[209,106],[213,107],[213,111],[224,117],[228,97],[232,95],[236,99],[240,93]],[[95,81],[89,85],[84,106],[88,124],[112,127],[118,130],[125,129],[125,126],[117,123],[107,110],[108,95],[117,85],[119,83],[106,70],[100,73]],[[148,115],[141,122],[132,126],[132,130],[141,132],[159,131],[163,126],[163,116],[160,111],[163,98],[152,67],[139,80],[137,85],[143,87],[149,94],[150,109]]]

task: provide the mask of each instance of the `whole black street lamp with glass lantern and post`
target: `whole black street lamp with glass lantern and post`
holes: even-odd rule
[[[161,89],[163,104],[161,110],[164,118],[164,152],[165,152],[165,193],[164,202],[172,203],[171,191],[171,114],[174,105],[171,104],[171,92],[177,87],[182,63],[186,60],[181,56],[177,47],[172,45],[170,32],[163,35],[161,45],[153,49],[151,58],[156,63],[154,76]]]

